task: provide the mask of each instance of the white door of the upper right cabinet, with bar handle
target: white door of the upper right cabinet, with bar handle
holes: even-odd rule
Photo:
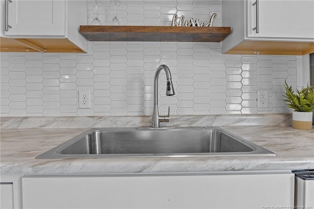
[[[248,37],[314,40],[314,0],[258,0],[259,33],[254,2],[247,4]]]

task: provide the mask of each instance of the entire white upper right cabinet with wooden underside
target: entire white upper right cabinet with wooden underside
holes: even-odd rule
[[[314,52],[314,0],[223,0],[222,25],[232,28],[223,53]]]

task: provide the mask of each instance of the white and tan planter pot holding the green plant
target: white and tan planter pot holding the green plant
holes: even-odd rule
[[[313,112],[292,112],[292,128],[311,130],[313,124]]]

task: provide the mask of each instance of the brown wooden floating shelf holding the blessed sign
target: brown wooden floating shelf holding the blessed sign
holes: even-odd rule
[[[230,27],[79,26],[89,41],[220,42],[230,32]]]

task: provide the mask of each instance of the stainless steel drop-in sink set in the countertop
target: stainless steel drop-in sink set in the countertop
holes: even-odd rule
[[[274,156],[219,127],[90,129],[36,158]]]

